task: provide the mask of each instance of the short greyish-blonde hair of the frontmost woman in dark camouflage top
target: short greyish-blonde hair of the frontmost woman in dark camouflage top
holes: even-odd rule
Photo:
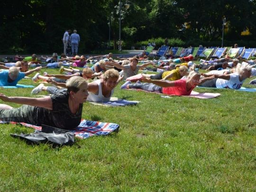
[[[88,83],[84,78],[82,78],[81,76],[73,76],[66,82],[67,92],[78,92],[81,86],[84,84],[88,86]]]

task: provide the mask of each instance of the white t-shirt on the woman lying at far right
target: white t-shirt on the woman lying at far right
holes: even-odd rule
[[[239,81],[239,74],[238,73],[231,73],[230,79],[217,79],[216,87],[217,88],[229,88],[229,89],[240,89],[244,81]]]

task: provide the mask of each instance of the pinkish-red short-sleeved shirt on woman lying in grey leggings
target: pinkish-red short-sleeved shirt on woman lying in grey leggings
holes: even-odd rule
[[[174,81],[174,87],[163,87],[162,92],[167,95],[190,95],[192,87],[189,91],[186,90],[186,79],[179,79]]]

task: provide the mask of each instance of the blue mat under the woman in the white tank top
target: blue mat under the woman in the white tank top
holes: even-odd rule
[[[109,101],[103,102],[90,102],[93,105],[102,105],[108,107],[119,107],[119,106],[128,106],[128,105],[137,105],[140,101],[136,100],[123,100],[117,97],[111,97]]]

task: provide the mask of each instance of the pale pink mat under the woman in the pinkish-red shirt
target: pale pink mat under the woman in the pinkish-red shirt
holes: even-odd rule
[[[147,92],[147,91],[141,90],[141,89],[127,89],[127,90]],[[150,92],[150,93],[165,95],[165,94],[160,93],[160,92]],[[194,92],[194,91],[192,91],[190,95],[180,95],[180,96],[181,97],[193,97],[193,98],[197,98],[197,99],[211,99],[211,98],[218,97],[219,95],[220,95],[220,93]],[[168,95],[168,96],[179,96],[179,95]],[[171,97],[164,97],[164,98],[171,98]]]

